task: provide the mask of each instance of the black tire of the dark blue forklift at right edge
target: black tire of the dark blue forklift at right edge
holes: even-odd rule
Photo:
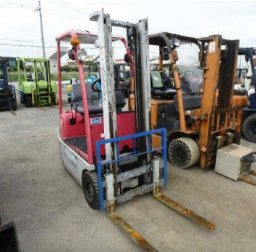
[[[256,114],[252,114],[245,118],[242,132],[247,141],[256,143]]]

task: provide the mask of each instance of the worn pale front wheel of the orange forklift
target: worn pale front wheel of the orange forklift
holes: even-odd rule
[[[199,148],[196,142],[188,137],[180,137],[168,145],[168,158],[179,168],[188,168],[199,160]]]

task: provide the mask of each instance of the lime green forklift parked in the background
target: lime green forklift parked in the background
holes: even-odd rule
[[[26,107],[57,104],[57,85],[50,78],[50,63],[44,58],[18,58],[20,102]]]

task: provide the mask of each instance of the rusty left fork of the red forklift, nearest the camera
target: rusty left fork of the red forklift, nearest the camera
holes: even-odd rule
[[[145,238],[137,232],[132,226],[130,226],[121,216],[115,211],[111,211],[109,214],[110,219],[117,224],[128,236],[135,241],[144,251],[157,251]]]

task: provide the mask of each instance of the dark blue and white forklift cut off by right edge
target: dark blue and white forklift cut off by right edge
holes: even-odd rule
[[[246,88],[249,99],[248,107],[243,109],[242,133],[247,141],[256,143],[256,58],[254,57],[256,48],[239,48],[238,55],[245,57],[245,61],[249,63],[251,70],[251,76],[249,77],[245,76],[245,74],[238,76],[240,77],[239,79],[242,79],[242,84]],[[244,84],[246,78],[250,79],[249,87]]]

